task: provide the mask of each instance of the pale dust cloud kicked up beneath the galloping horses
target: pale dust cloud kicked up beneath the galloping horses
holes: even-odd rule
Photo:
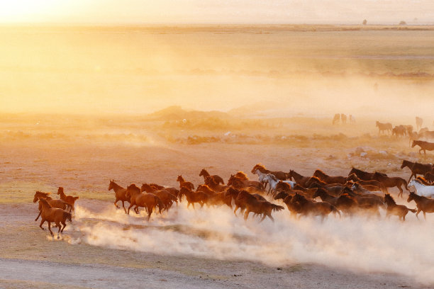
[[[228,208],[188,210],[181,204],[167,215],[153,215],[148,223],[144,215],[128,216],[111,206],[98,214],[77,206],[73,234],[80,242],[111,249],[243,259],[269,266],[320,263],[434,283],[432,215],[428,221],[408,215],[405,223],[366,217],[293,220],[287,211],[274,215],[274,223],[245,222]]]

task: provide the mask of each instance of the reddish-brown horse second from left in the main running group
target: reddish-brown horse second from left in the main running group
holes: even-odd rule
[[[158,207],[160,212],[164,205],[160,198],[155,196],[153,193],[141,193],[140,188],[135,186],[135,184],[131,184],[126,188],[126,196],[130,198],[130,206],[128,207],[127,214],[130,215],[130,208],[135,206],[134,210],[138,214],[138,208],[143,207],[148,212],[148,222],[150,220],[150,216],[154,210],[154,208]]]

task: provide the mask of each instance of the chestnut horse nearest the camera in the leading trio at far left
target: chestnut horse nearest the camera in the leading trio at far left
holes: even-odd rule
[[[53,236],[51,231],[51,222],[55,222],[59,231],[57,232],[57,239],[60,239],[59,234],[63,232],[66,227],[66,221],[72,222],[72,216],[70,212],[62,210],[60,208],[53,208],[45,198],[39,198],[39,204],[41,205],[41,214],[40,214],[40,225],[39,227],[44,230],[42,227],[45,221],[48,222],[48,230],[50,234]],[[63,227],[60,225],[62,224]]]

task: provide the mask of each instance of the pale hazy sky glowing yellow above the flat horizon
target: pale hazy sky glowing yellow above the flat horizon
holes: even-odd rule
[[[433,0],[0,0],[2,23],[434,23]]]

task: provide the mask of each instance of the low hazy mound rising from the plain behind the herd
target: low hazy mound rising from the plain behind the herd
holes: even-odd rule
[[[228,113],[221,111],[186,111],[181,106],[169,106],[155,113],[150,113],[148,118],[153,120],[182,120],[198,118],[230,118]]]

